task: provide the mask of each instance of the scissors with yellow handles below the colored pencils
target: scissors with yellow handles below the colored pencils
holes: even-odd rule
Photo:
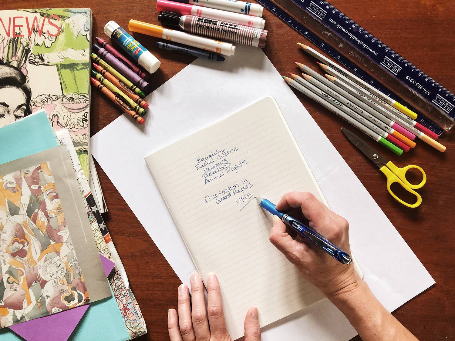
[[[362,153],[364,153],[370,160],[374,162],[375,165],[379,167],[379,171],[383,172],[384,175],[387,177],[387,191],[389,191],[390,195],[393,196],[396,200],[401,202],[403,205],[414,208],[419,206],[422,203],[422,197],[419,193],[414,191],[415,189],[421,188],[425,185],[426,182],[426,174],[422,168],[416,165],[407,165],[406,167],[399,168],[392,161],[387,160],[384,156],[380,155],[376,150],[371,148],[364,140],[362,140],[359,136],[355,135],[354,133],[350,132],[347,129],[341,128],[344,135],[357,147],[359,148]],[[422,181],[419,184],[413,185],[406,179],[406,172],[409,171],[411,168],[418,169],[422,173]],[[401,187],[403,187],[406,191],[414,194],[417,198],[414,204],[410,204],[406,201],[401,200],[395,193],[390,189],[390,186],[398,182]]]

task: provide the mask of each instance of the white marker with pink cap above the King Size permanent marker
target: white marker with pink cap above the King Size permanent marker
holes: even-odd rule
[[[224,10],[216,10],[208,7],[181,4],[179,2],[167,0],[157,0],[157,10],[173,12],[180,15],[191,14],[260,29],[263,29],[265,25],[265,20],[257,16],[226,12]]]

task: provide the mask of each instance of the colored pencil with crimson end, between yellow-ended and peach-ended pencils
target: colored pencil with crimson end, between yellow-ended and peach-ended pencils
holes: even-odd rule
[[[364,89],[363,87],[361,87],[360,85],[358,85],[357,83],[353,82],[352,80],[350,80],[348,77],[342,75],[341,73],[339,73],[337,70],[333,69],[332,67],[328,66],[328,65],[324,65],[322,63],[319,63],[319,66],[326,72],[328,72],[329,74],[335,76],[335,77],[338,77],[340,80],[342,80],[344,83],[346,84],[349,84],[350,86],[352,86],[354,89],[356,89],[357,91],[359,91],[362,95],[366,96],[367,98],[369,98],[370,100],[373,100],[375,103],[381,105],[382,107],[384,107],[386,110],[390,111],[393,115],[395,115],[396,117],[399,117],[401,118],[402,120],[404,120],[405,122],[408,122],[408,124],[412,125],[413,127],[417,128],[418,130],[420,130],[421,132],[425,133],[426,135],[430,136],[432,139],[437,139],[439,136],[438,134],[434,133],[433,131],[425,128],[423,125],[421,125],[420,123],[416,122],[415,120],[413,120],[412,118],[408,117],[407,115],[403,114],[401,111],[395,109],[393,106],[389,105],[388,103],[384,102],[384,100],[380,99],[378,96],[372,94],[369,90],[366,90]]]

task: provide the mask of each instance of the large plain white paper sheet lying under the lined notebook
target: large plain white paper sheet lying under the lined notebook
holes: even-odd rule
[[[182,282],[189,286],[195,266],[144,157],[268,95],[277,100],[330,208],[348,219],[351,246],[379,301],[393,311],[434,284],[263,51],[243,45],[223,62],[194,61],[155,90],[143,126],[122,115],[91,138],[92,154]],[[327,299],[263,329],[265,341],[355,335]]]

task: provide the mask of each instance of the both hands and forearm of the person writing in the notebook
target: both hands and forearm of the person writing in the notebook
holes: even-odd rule
[[[285,194],[276,205],[278,211],[304,222],[329,242],[351,253],[349,224],[343,217],[330,211],[311,193]],[[298,271],[346,316],[363,340],[416,340],[397,321],[370,291],[368,285],[354,270],[353,264],[342,264],[316,247],[295,231],[290,231],[277,216],[269,236],[272,244],[293,263]],[[219,283],[215,274],[207,278],[207,312],[202,279],[191,277],[192,305],[188,287],[178,289],[178,314],[168,312],[168,329],[171,341],[229,341]],[[245,317],[245,341],[259,341],[260,328],[257,308],[251,308]],[[210,327],[209,327],[210,324]],[[285,339],[285,336],[283,336]],[[305,339],[305,336],[302,336]]]

